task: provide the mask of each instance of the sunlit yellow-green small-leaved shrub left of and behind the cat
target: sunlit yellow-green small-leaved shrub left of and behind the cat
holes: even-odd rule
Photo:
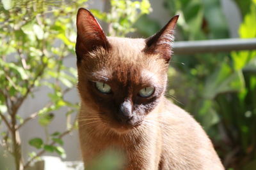
[[[0,124],[7,128],[6,132],[0,131],[0,144],[12,153],[16,169],[28,167],[44,152],[66,157],[61,138],[76,129],[77,123],[70,122],[70,115],[77,113],[79,106],[65,97],[76,86],[77,71],[65,66],[63,61],[75,55],[76,13],[79,7],[86,6],[86,2],[3,0],[0,3]],[[108,24],[111,36],[125,36],[134,31],[134,22],[150,12],[148,0],[111,0],[110,3],[108,13],[91,11]],[[22,103],[28,97],[35,97],[36,90],[42,87],[51,90],[47,94],[49,102],[29,117],[20,117],[18,112]],[[60,108],[67,117],[67,128],[63,132],[54,132],[49,125]],[[19,130],[35,117],[45,131],[45,139],[29,139],[29,145],[38,152],[29,153],[30,159],[24,164],[17,142]]]

